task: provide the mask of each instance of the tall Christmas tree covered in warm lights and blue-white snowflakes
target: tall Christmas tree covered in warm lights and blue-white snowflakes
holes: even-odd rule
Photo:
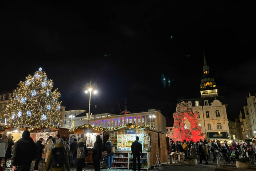
[[[28,75],[13,91],[4,116],[14,128],[23,125],[33,128],[54,127],[62,123],[61,96],[58,88],[53,90],[53,81],[47,79],[46,72],[39,68],[34,76]]]

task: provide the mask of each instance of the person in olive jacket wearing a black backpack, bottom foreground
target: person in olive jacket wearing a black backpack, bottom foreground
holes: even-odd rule
[[[70,171],[67,152],[63,144],[64,140],[58,138],[55,148],[53,148],[47,158],[45,170],[49,171]]]

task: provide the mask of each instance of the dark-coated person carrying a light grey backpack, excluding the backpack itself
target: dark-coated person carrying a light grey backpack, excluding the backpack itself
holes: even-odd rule
[[[77,148],[79,148],[79,147],[83,147],[84,158],[77,159]],[[80,138],[78,144],[76,145],[76,147],[73,150],[73,156],[75,158],[75,168],[77,171],[82,171],[83,167],[85,167],[85,157],[87,156],[87,154],[88,154],[88,150],[87,150],[86,146],[84,145],[84,139]]]

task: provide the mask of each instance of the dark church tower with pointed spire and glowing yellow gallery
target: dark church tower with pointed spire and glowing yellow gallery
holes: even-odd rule
[[[218,91],[213,76],[209,73],[209,66],[206,63],[203,52],[203,77],[201,78],[200,93],[201,97],[217,97]]]

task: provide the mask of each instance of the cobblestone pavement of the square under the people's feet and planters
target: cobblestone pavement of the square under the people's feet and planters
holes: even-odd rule
[[[235,163],[224,165],[223,159],[221,159],[221,167],[220,168],[217,167],[217,163],[212,162],[212,159],[208,160],[208,163],[209,164],[204,164],[204,162],[203,162],[203,164],[198,164],[197,166],[187,166],[186,162],[181,163],[181,164],[170,164],[170,162],[167,162],[166,164],[163,164],[163,167],[164,167],[165,171],[169,171],[169,170],[177,170],[177,171],[227,171],[227,170],[251,171],[251,170],[256,170],[256,162],[254,162],[255,164],[250,164],[249,169],[236,168]],[[11,171],[12,169],[10,168],[10,165],[11,165],[11,160],[7,161],[8,168],[7,169],[3,168],[3,169],[5,169],[6,171],[7,170]],[[2,160],[1,166],[3,166],[3,160]],[[32,162],[30,171],[34,171],[34,166],[35,166],[35,161]],[[41,161],[39,163],[38,169],[39,169],[39,171],[45,171],[44,168],[45,168],[45,162]],[[153,168],[154,167],[151,167],[150,170],[153,170]],[[70,170],[75,171],[75,168],[71,167]],[[127,170],[128,169],[114,169],[114,168],[112,168],[111,170],[101,169],[101,171],[127,171]],[[130,169],[130,170],[132,170],[132,169]],[[141,170],[146,170],[146,169],[141,169]],[[85,168],[83,168],[83,171],[94,171],[94,168],[91,165],[87,165]]]

